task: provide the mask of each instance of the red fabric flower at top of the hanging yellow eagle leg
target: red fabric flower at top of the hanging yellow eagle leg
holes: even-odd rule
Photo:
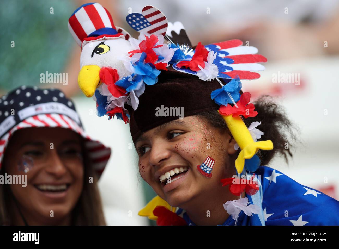
[[[251,94],[249,92],[244,92],[240,96],[240,100],[237,102],[238,108],[235,105],[221,105],[219,108],[219,113],[224,116],[233,114],[233,117],[238,115],[242,115],[244,118],[255,117],[258,115],[258,112],[254,110],[254,104],[248,104],[250,99]]]

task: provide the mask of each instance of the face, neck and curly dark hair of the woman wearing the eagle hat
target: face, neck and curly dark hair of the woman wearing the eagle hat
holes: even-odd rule
[[[270,98],[262,97],[255,105],[266,116],[265,121],[271,123],[262,130],[265,134],[271,130],[274,136],[268,138],[274,144],[288,141],[288,136],[294,139],[291,122]],[[252,118],[246,122],[255,121]],[[215,225],[222,224],[230,216],[222,204],[225,200],[232,200],[234,195],[220,184],[220,180],[234,175],[234,163],[239,154],[235,144],[221,115],[216,111],[206,111],[142,133],[136,139],[135,147],[141,177],[160,198],[173,207],[186,210],[196,225]],[[260,155],[260,159],[267,165],[274,154],[287,157],[289,153],[289,150],[277,146]],[[215,161],[211,178],[204,177],[197,170],[197,165],[206,157]],[[213,215],[206,216],[206,210]]]

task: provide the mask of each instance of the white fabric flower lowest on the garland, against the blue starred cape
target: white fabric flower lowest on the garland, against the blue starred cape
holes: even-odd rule
[[[242,210],[246,215],[251,216],[253,214],[258,214],[260,212],[260,207],[258,205],[248,205],[247,197],[234,200],[234,201],[227,201],[224,204],[224,209],[227,211],[228,214],[232,216],[232,219],[237,219],[240,211]]]

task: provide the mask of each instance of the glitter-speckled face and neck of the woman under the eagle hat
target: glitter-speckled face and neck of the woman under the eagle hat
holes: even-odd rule
[[[228,217],[222,204],[232,194],[224,191],[220,179],[234,174],[234,144],[227,130],[213,129],[203,118],[189,116],[144,132],[135,147],[141,177],[157,195],[169,205],[185,209],[192,219],[203,217],[194,219],[197,224],[213,225]],[[216,162],[212,178],[197,170],[207,156]],[[216,215],[206,217],[206,210]]]

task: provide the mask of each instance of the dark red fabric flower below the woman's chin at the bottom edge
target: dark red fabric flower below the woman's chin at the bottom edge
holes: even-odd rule
[[[153,210],[153,214],[158,217],[158,226],[187,226],[187,223],[183,218],[164,206],[156,206]]]

